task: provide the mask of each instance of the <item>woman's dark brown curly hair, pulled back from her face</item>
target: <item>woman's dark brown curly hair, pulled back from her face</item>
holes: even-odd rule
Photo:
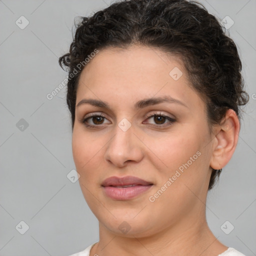
[[[77,84],[83,70],[79,63],[84,67],[84,59],[95,49],[127,48],[132,44],[157,47],[182,60],[191,87],[206,103],[209,127],[219,124],[229,108],[240,119],[240,106],[249,97],[243,90],[236,45],[201,3],[120,0],[89,17],[79,18],[69,52],[59,57],[60,66],[67,67],[69,72],[66,102],[72,130]],[[213,187],[220,170],[212,169],[208,189]]]

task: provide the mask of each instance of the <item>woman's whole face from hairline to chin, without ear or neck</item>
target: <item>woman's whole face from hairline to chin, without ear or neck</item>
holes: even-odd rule
[[[73,159],[103,228],[143,237],[204,216],[212,137],[181,61],[146,46],[100,50],[76,105]]]

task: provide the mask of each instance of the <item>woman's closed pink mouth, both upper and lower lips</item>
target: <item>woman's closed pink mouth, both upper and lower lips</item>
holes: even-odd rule
[[[152,182],[134,176],[106,178],[101,186],[105,195],[115,200],[128,200],[147,191]]]

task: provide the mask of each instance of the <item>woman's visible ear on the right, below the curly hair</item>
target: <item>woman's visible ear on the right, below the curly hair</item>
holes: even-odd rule
[[[214,130],[214,142],[210,166],[213,169],[223,168],[235,150],[240,130],[239,119],[233,109],[226,111],[225,117]]]

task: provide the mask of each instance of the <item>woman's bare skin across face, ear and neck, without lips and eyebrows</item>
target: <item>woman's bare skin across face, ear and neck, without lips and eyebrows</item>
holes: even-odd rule
[[[169,75],[174,67],[183,73],[177,80]],[[186,106],[162,102],[134,109],[138,100],[165,95]],[[100,50],[81,72],[76,104],[84,98],[109,104],[109,108],[77,106],[72,133],[80,187],[99,221],[99,242],[90,255],[216,256],[225,251],[227,246],[208,228],[205,203],[210,167],[222,168],[237,144],[235,112],[229,109],[210,132],[206,105],[189,86],[182,62],[157,48],[138,45]],[[175,121],[148,118],[155,112]],[[88,128],[80,120],[89,113],[105,118],[87,119],[96,126]],[[131,124],[127,131],[118,126],[123,118]],[[155,201],[149,201],[197,151],[200,156]],[[107,197],[102,181],[126,175],[153,186],[130,200]],[[130,227],[126,233],[118,228],[123,221]]]

